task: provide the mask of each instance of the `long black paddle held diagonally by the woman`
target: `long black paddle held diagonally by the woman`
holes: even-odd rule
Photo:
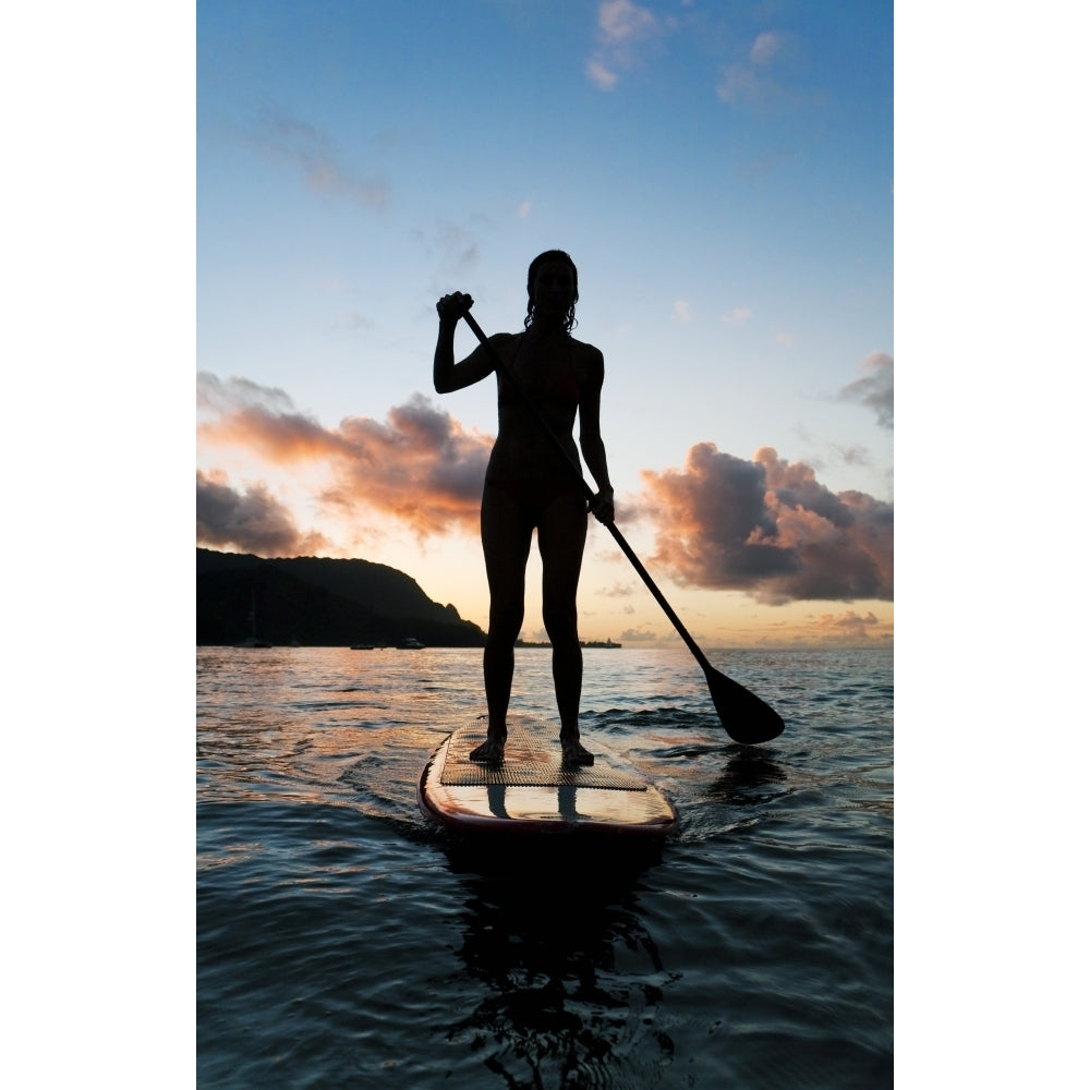
[[[470,329],[472,329],[476,335],[477,340],[481,341],[481,343],[491,353],[493,363],[496,365],[496,370],[519,392],[519,396],[523,401],[525,401],[526,408],[530,410],[534,420],[537,421],[537,424],[548,437],[549,441],[564,457],[565,462],[571,468],[571,471],[579,479],[579,483],[582,486],[586,498],[594,500],[596,498],[596,494],[584,480],[583,471],[580,469],[579,463],[572,459],[564,444],[557,438],[556,433],[554,433],[553,428],[549,427],[548,421],[546,421],[541,414],[541,411],[537,405],[534,404],[533,399],[511,373],[510,367],[504,363],[499,353],[488,342],[488,338],[485,337],[484,331],[476,324],[469,311],[465,311],[462,317],[465,319],[465,324],[470,327]],[[682,640],[685,640],[686,645],[700,664],[700,668],[704,671],[704,679],[707,681],[708,692],[712,695],[712,703],[715,704],[715,711],[719,714],[719,722],[726,728],[727,734],[730,735],[736,742],[743,742],[746,744],[771,741],[773,738],[782,734],[784,729],[784,720],[779,717],[776,710],[766,704],[755,693],[750,692],[744,686],[739,685],[737,681],[728,678],[725,674],[722,674],[707,661],[704,652],[700,650],[697,645],[697,641],[693,640],[685,625],[681,623],[681,619],[663,596],[663,592],[655,585],[655,581],[651,578],[647,569],[640,562],[640,558],[632,552],[632,547],[627,541],[625,541],[625,537],[617,529],[616,524],[613,522],[605,522],[603,525],[609,531],[610,534],[613,534],[614,541],[617,542],[621,552],[631,561],[632,567],[639,572],[640,578],[644,581],[644,583],[646,583],[647,590],[650,590],[655,596],[655,601],[663,607],[663,611],[667,617],[669,617],[670,622],[677,629],[678,634]]]

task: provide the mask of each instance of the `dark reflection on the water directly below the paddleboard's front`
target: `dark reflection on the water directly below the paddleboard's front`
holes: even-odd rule
[[[570,839],[451,856],[465,904],[457,950],[485,985],[448,1040],[508,1086],[639,1086],[673,1053],[657,1026],[671,974],[641,919],[647,856],[611,861]]]

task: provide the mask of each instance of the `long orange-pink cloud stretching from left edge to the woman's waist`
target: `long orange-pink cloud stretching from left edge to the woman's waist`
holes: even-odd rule
[[[421,541],[476,532],[493,439],[468,432],[421,395],[390,409],[385,421],[353,416],[325,427],[281,391],[254,383],[202,375],[198,389],[215,412],[197,427],[206,449],[238,446],[270,465],[324,471],[314,500],[342,518],[378,512]]]

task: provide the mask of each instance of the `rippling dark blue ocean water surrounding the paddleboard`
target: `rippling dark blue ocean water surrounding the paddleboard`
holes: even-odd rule
[[[688,652],[588,650],[584,742],[680,815],[639,858],[425,822],[480,654],[197,649],[197,1086],[892,1086],[892,651],[711,652],[787,723],[747,748]]]

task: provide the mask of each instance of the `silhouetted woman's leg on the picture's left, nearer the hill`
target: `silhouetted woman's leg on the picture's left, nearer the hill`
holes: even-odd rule
[[[488,740],[471,754],[498,761],[507,740],[507,707],[514,675],[514,641],[525,608],[526,558],[533,528],[524,524],[518,498],[485,485],[481,500],[481,544],[488,574],[488,635],[484,646],[484,690],[488,703]]]

